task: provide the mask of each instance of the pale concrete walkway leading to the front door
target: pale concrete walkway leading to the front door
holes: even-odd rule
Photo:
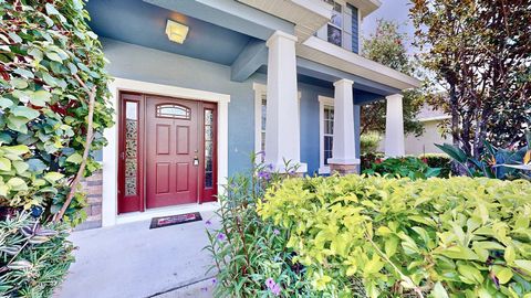
[[[214,273],[205,222],[149,230],[149,222],[74,232],[76,262],[60,298],[211,297]],[[218,226],[212,220],[209,228]]]

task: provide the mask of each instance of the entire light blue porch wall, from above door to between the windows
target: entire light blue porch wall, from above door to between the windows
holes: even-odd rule
[[[229,175],[250,168],[254,151],[254,91],[252,83],[266,84],[267,76],[257,73],[238,83],[230,81],[230,67],[148,47],[102,40],[105,56],[111,61],[112,76],[230,95],[229,104]],[[319,171],[320,126],[319,95],[333,97],[332,88],[300,83],[301,92],[301,161],[308,173]],[[355,91],[363,98],[366,93]],[[357,107],[357,109],[356,109]],[[354,113],[358,119],[358,106]],[[355,127],[360,124],[356,123]],[[358,147],[358,145],[356,145]]]

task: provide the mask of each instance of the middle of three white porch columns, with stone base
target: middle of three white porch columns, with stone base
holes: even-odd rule
[[[353,84],[345,78],[334,83],[334,139],[329,164],[331,171],[340,173],[352,173],[360,164],[354,140]]]

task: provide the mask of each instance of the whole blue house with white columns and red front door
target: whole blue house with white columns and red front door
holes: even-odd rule
[[[88,1],[116,109],[102,179],[87,182],[93,223],[215,207],[261,150],[275,170],[285,158],[301,173],[355,171],[360,105],[382,97],[386,151],[404,155],[400,93],[419,82],[357,54],[361,21],[379,4]]]

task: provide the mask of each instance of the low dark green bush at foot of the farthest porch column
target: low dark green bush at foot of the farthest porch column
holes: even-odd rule
[[[438,177],[440,168],[430,168],[426,162],[416,157],[387,158],[372,164],[371,169],[363,171],[366,174],[381,174],[394,177],[408,177],[410,179],[427,179]]]

